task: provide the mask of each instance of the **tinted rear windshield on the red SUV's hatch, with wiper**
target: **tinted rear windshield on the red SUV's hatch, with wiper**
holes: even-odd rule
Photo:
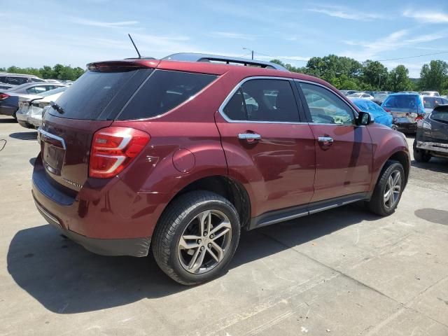
[[[54,109],[48,112],[71,119],[114,119],[152,71],[133,68],[86,71],[57,99],[64,113],[60,114]]]

